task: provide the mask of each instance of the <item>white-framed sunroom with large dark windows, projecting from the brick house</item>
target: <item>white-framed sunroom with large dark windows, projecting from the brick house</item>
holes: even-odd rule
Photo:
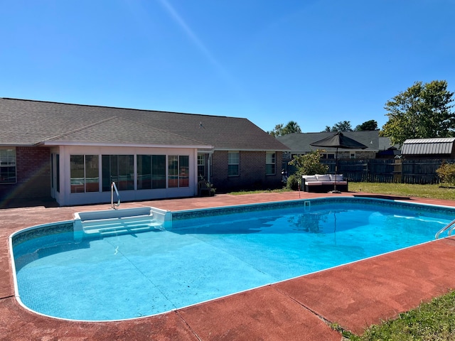
[[[196,195],[200,146],[53,146],[51,196],[60,205]],[[207,148],[207,146],[205,146]]]

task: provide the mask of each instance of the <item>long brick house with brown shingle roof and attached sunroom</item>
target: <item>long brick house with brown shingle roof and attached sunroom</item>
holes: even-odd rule
[[[281,186],[287,146],[248,119],[0,99],[0,205],[60,205]],[[277,166],[278,165],[278,166]]]

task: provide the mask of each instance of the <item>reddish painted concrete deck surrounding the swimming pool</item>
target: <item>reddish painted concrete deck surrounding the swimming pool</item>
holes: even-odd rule
[[[368,196],[215,195],[124,202],[121,208],[175,211],[334,195]],[[395,199],[455,207],[453,200]],[[0,209],[0,340],[341,340],[330,323],[360,335],[372,324],[455,288],[455,237],[451,237],[148,318],[97,323],[48,318],[26,310],[14,297],[9,236],[36,224],[72,220],[74,212],[109,207],[51,206]]]

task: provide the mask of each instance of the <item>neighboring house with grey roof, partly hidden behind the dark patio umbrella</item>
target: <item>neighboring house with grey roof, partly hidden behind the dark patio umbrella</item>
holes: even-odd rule
[[[336,134],[334,132],[321,133],[293,133],[277,137],[278,141],[286,145],[290,151],[283,156],[284,161],[291,161],[294,155],[303,155],[311,151],[323,150],[323,158],[335,158],[336,148],[322,148],[311,146],[312,143]],[[379,131],[343,131],[345,136],[364,144],[366,149],[338,148],[338,159],[375,158],[379,151]]]

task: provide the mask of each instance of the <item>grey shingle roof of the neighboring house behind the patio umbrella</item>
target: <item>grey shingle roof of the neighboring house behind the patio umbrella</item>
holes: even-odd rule
[[[311,146],[310,144],[321,139],[325,139],[326,137],[331,136],[333,134],[336,133],[333,132],[294,133],[279,136],[277,139],[280,142],[282,142],[282,144],[288,146],[294,153],[306,153],[309,151],[316,151],[317,149],[322,149],[321,147]],[[343,131],[343,134],[368,147],[366,149],[358,149],[359,151],[363,150],[377,152],[379,150],[378,131]],[[325,149],[326,151],[336,151],[336,148],[323,149]],[[351,149],[351,151],[355,151],[355,149]]]

